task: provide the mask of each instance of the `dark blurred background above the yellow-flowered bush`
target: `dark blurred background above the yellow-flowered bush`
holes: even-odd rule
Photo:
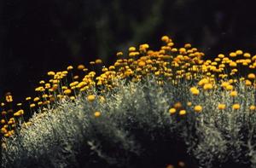
[[[46,72],[101,58],[169,35],[208,57],[242,49],[256,54],[253,0],[1,0],[0,97],[31,96]]]

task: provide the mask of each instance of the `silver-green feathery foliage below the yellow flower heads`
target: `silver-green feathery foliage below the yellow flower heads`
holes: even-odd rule
[[[147,144],[170,139],[184,142],[203,167],[227,160],[256,166],[256,113],[248,109],[255,102],[255,90],[237,84],[239,96],[234,99],[220,87],[192,96],[192,85],[160,86],[154,78],[128,84],[120,80],[118,87],[102,95],[105,102],[98,97],[89,102],[86,95],[74,102],[60,101],[47,113],[38,111],[31,126],[9,138],[3,148],[3,167],[92,167],[95,160],[132,167],[134,157],[151,150]],[[185,116],[169,114],[177,101],[187,111]],[[188,101],[192,107],[186,106]],[[227,108],[218,110],[218,103]],[[233,103],[241,108],[233,110]],[[195,105],[203,111],[195,113]],[[95,111],[102,115],[96,118]]]

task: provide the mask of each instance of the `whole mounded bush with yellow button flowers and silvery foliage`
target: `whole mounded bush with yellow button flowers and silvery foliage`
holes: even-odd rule
[[[16,106],[8,93],[3,167],[255,167],[256,55],[207,60],[161,40],[118,52],[99,75],[50,71]]]

